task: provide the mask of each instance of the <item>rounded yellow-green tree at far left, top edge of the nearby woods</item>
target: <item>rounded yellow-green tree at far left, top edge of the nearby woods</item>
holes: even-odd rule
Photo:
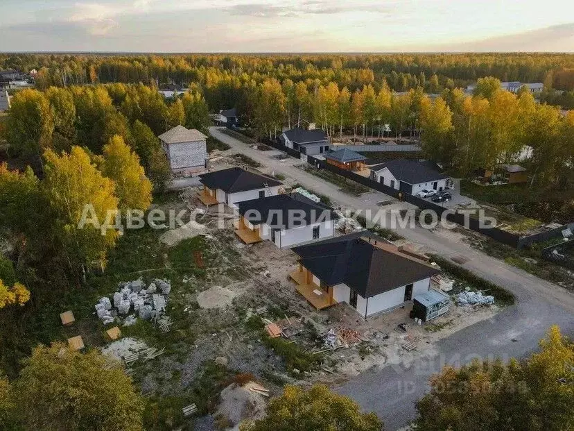
[[[45,149],[51,147],[54,114],[46,96],[37,90],[21,90],[10,101],[8,144],[16,153],[41,162]]]

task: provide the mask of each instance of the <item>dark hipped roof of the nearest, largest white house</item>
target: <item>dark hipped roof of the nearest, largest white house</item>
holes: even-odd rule
[[[293,251],[299,255],[299,262],[322,282],[331,286],[345,283],[363,298],[441,272],[401,253],[396,246],[368,230],[294,247]]]

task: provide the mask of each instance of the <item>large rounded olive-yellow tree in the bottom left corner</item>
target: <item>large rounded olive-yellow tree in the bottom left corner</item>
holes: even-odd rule
[[[27,430],[139,431],[143,400],[117,360],[55,343],[24,360],[13,384],[19,422]]]

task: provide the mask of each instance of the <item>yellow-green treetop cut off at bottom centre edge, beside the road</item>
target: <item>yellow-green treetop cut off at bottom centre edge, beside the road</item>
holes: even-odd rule
[[[272,398],[267,416],[254,423],[241,423],[241,431],[382,431],[374,413],[362,413],[351,398],[335,394],[322,384],[304,390],[286,386]]]

